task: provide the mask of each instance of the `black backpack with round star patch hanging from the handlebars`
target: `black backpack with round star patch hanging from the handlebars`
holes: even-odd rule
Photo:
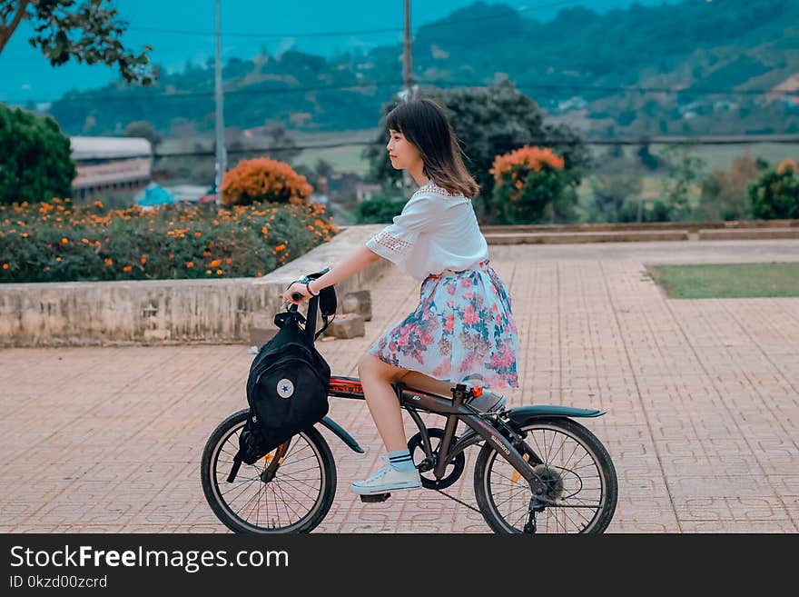
[[[327,270],[306,276],[313,279]],[[324,327],[315,332],[321,305]],[[291,305],[287,313],[275,315],[280,331],[261,346],[250,365],[247,403],[250,413],[239,436],[239,452],[233,457],[228,481],[232,483],[242,462],[252,464],[289,440],[319,423],[328,413],[330,365],[316,350],[314,340],[325,331],[328,317],[336,312],[332,286],[311,298],[307,319]]]

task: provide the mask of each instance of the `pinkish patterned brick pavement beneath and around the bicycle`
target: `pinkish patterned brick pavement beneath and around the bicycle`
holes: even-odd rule
[[[520,330],[510,403],[608,411],[583,423],[617,466],[609,532],[799,530],[799,298],[668,300],[643,265],[799,261],[799,241],[492,246],[491,259]],[[320,343],[335,373],[356,374],[419,286],[395,272],[371,290],[366,337]],[[242,345],[0,351],[0,532],[226,532],[199,461],[245,405],[251,360]],[[331,402],[368,452],[323,432],[339,487],[318,532],[488,532],[437,493],[358,501],[347,485],[380,441],[364,403]],[[450,491],[474,504],[470,452]]]

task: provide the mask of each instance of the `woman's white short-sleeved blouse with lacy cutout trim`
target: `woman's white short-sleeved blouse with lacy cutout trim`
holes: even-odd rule
[[[488,244],[471,201],[432,181],[419,187],[394,224],[372,236],[366,246],[417,280],[445,269],[459,272],[488,259]]]

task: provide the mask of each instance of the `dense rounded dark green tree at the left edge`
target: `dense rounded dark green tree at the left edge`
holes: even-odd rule
[[[0,203],[69,197],[76,174],[71,152],[52,118],[0,104]]]

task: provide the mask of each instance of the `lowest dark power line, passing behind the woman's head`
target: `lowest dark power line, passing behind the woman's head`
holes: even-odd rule
[[[541,140],[544,142],[545,140]],[[742,135],[721,135],[721,136],[681,136],[681,137],[640,137],[637,139],[582,139],[581,142],[587,145],[662,145],[662,144],[686,144],[686,145],[742,145],[755,143],[774,143],[774,144],[799,144],[799,134],[742,134]],[[538,143],[530,140],[528,144]],[[574,139],[546,139],[547,145],[564,145],[575,143]],[[339,147],[357,147],[378,144],[375,141],[350,141],[346,143],[331,144],[312,144],[312,145],[284,145],[282,147],[252,147],[247,149],[229,149],[228,154],[254,154],[268,152],[286,151],[308,151],[312,149],[335,149]],[[192,151],[192,152],[169,152],[166,154],[153,154],[154,159],[165,157],[212,157],[212,149]]]

